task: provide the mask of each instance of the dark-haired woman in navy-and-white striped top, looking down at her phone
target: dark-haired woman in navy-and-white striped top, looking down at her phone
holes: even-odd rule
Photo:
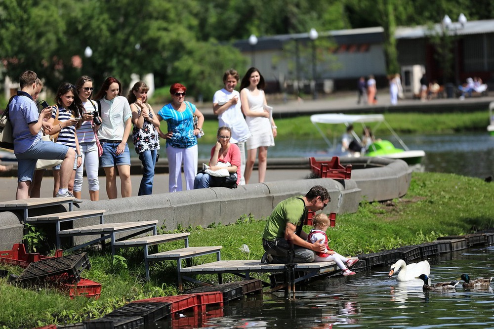
[[[77,94],[76,87],[72,83],[64,82],[58,87],[57,94],[55,96],[56,105],[58,111],[53,111],[51,114],[50,123],[52,129],[50,134],[53,135],[59,132],[57,138],[57,144],[67,145],[72,147],[76,153],[76,161],[74,162],[74,170],[67,170],[69,173],[69,194],[73,195],[74,191],[74,178],[76,176],[76,169],[82,164],[82,155],[79,149],[79,141],[76,135],[76,129],[81,126],[82,111],[84,107],[82,106],[81,99]],[[55,123],[55,119],[58,120]],[[53,167],[53,178],[55,180],[55,186],[53,188],[53,197],[55,197],[58,192],[60,185],[60,164]]]

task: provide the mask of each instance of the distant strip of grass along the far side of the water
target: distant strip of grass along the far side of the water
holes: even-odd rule
[[[489,111],[477,111],[471,113],[449,113],[449,114],[424,114],[424,113],[388,113],[385,115],[386,121],[391,125],[393,130],[398,134],[447,134],[463,131],[485,131],[489,125]],[[166,130],[166,123],[163,124],[163,129]],[[296,118],[277,119],[278,126],[277,140],[293,138],[319,138],[319,132],[310,122],[310,116],[300,116]],[[371,125],[372,127],[373,125]],[[343,134],[345,127],[343,124],[327,124],[320,125],[328,136]],[[218,122],[216,120],[207,120],[204,123],[204,131],[206,135],[201,139],[200,143],[215,142],[216,130]],[[330,129],[335,129],[330,130]],[[164,130],[164,131],[165,131]],[[355,126],[355,131],[360,135],[362,128]],[[388,135],[387,128],[381,124],[374,132],[378,137],[381,134]]]

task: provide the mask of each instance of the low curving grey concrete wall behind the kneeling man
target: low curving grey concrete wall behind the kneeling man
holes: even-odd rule
[[[219,187],[96,202],[84,200],[78,206],[81,210],[105,209],[107,223],[159,220],[159,227],[173,230],[178,225],[206,227],[211,223],[230,224],[249,214],[255,218],[267,217],[280,201],[291,196],[304,195],[314,185],[322,185],[329,191],[331,202],[325,212],[356,212],[363,200],[384,201],[406,194],[412,170],[404,161],[341,158],[342,164],[350,161],[355,165],[355,169],[352,170],[352,179],[349,180],[285,180],[249,184],[233,190]],[[306,163],[308,164],[308,161]],[[361,169],[358,169],[359,167]],[[41,211],[42,209],[34,209],[30,215]],[[63,211],[63,208],[53,209],[52,212],[55,211]],[[74,222],[74,226],[96,223],[95,219],[78,220]],[[47,226],[45,231],[52,231],[53,228],[54,225],[51,225],[51,229]],[[0,213],[0,250],[10,249],[14,243],[20,242],[22,232],[20,213]],[[88,237],[77,239],[80,239],[77,242],[81,243],[87,241]]]

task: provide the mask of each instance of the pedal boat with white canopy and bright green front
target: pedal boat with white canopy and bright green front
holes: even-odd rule
[[[419,164],[422,158],[425,156],[425,152],[422,150],[410,150],[398,134],[391,128],[391,126],[384,120],[382,114],[369,114],[369,115],[349,115],[349,114],[315,114],[310,117],[311,122],[321,133],[321,136],[329,146],[329,152],[332,155],[345,155],[345,156],[366,156],[366,157],[381,157],[387,159],[401,159],[408,164]],[[388,128],[396,142],[399,143],[403,149],[396,148],[393,143],[388,140],[375,140],[371,145],[363,149],[362,152],[342,153],[338,148],[337,139],[339,136],[333,134],[333,142],[329,141],[326,134],[323,132],[319,124],[344,124],[349,126],[356,123],[362,124],[362,127],[370,127],[369,123],[375,123],[373,127],[370,127],[374,131],[381,123]],[[367,125],[366,125],[367,123]],[[353,138],[362,143],[360,137],[352,132]]]

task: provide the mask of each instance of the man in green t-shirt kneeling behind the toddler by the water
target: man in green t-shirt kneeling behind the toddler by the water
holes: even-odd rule
[[[324,209],[331,201],[326,188],[313,186],[305,196],[288,198],[280,202],[271,212],[262,235],[262,247],[266,251],[261,262],[288,263],[288,251],[293,245],[295,263],[314,261],[315,252],[325,249],[321,239],[315,244],[307,242],[307,233],[302,231],[308,210]]]

